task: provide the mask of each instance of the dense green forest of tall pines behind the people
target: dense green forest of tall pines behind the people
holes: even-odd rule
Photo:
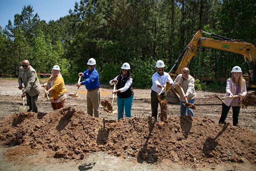
[[[100,83],[128,62],[133,86],[150,88],[156,61],[168,72],[200,29],[255,45],[255,0],[81,0],[69,15],[49,22],[24,5],[13,23],[0,26],[0,73],[17,76],[28,59],[37,73],[51,73],[58,64],[65,83],[75,83],[94,58]],[[243,56],[200,47],[190,74],[228,78],[235,65],[246,71]],[[207,88],[196,82],[197,89]]]

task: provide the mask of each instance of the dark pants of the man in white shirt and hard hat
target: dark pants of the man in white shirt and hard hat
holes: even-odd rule
[[[167,99],[167,93],[161,93],[160,94],[160,99]],[[157,109],[158,109],[158,103],[159,100],[157,98],[157,92],[154,92],[153,90],[151,90],[151,111],[152,111],[152,117],[155,117],[155,120],[157,121]]]

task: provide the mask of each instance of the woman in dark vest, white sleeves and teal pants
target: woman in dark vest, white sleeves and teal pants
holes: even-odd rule
[[[109,81],[111,85],[117,81],[117,90],[112,93],[117,93],[118,120],[123,119],[124,110],[125,116],[131,118],[131,106],[133,102],[133,91],[131,88],[132,77],[130,65],[126,62],[122,65],[122,72],[113,80]]]

